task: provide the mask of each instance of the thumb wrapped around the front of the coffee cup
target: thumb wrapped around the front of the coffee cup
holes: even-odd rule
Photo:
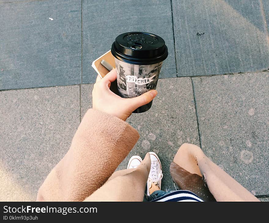
[[[135,110],[138,107],[151,102],[153,98],[156,97],[156,95],[157,95],[157,90],[150,90],[146,93],[143,93],[142,95],[139,95],[138,97],[128,98],[127,103],[128,103],[128,106],[132,110]]]

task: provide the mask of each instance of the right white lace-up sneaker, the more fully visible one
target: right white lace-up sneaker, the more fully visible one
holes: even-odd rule
[[[149,171],[149,178],[147,181],[147,195],[149,196],[149,188],[151,188],[152,183],[159,186],[161,189],[161,182],[163,178],[162,165],[159,157],[155,152],[149,152],[151,159],[151,167]]]

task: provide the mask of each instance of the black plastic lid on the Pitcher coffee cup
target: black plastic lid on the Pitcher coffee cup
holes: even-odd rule
[[[129,64],[156,64],[168,57],[164,39],[146,32],[126,32],[116,37],[111,53]]]

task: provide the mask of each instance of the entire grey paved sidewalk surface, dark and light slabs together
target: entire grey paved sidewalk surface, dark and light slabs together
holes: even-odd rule
[[[160,35],[169,56],[152,108],[127,119],[140,139],[117,170],[156,152],[172,190],[171,160],[192,143],[268,201],[269,1],[0,0],[0,11],[1,201],[35,200],[92,106],[92,61],[127,31]]]

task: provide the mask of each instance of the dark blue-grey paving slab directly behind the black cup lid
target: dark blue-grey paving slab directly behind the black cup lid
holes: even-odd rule
[[[131,12],[131,13],[130,13]],[[92,61],[111,49],[124,32],[147,31],[164,38],[169,56],[160,78],[176,77],[171,4],[167,0],[82,2],[83,83],[94,83]]]

